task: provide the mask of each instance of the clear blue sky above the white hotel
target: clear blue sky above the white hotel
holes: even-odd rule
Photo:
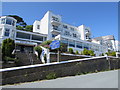
[[[28,25],[51,10],[62,15],[65,23],[90,27],[93,37],[114,35],[118,39],[117,2],[3,2],[2,5],[3,15],[21,16]]]

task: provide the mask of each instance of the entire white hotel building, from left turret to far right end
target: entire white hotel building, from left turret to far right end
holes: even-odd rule
[[[108,36],[109,37],[109,36]],[[33,50],[33,47],[46,40],[59,39],[74,51],[84,48],[93,50],[96,56],[106,53],[108,49],[116,50],[114,40],[92,39],[91,30],[85,25],[78,27],[62,22],[60,15],[48,11],[44,17],[33,24],[33,32],[16,29],[16,20],[12,17],[0,18],[0,43],[6,38],[15,40],[17,49]]]

